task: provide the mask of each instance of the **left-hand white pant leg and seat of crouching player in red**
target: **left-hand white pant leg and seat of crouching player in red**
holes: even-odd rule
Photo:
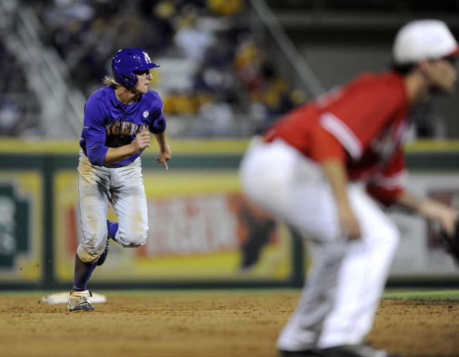
[[[334,199],[319,165],[282,141],[251,143],[240,167],[245,194],[308,238],[318,237],[307,286],[277,342],[283,351],[315,347],[323,320],[332,309],[343,244],[338,242]],[[310,247],[308,245],[308,247]]]

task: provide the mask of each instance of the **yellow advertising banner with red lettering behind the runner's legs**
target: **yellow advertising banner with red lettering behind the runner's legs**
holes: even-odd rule
[[[149,232],[140,248],[112,241],[94,282],[287,280],[291,238],[240,194],[237,172],[144,169]],[[55,175],[55,274],[71,282],[79,227],[76,172]],[[116,221],[112,210],[109,219]]]

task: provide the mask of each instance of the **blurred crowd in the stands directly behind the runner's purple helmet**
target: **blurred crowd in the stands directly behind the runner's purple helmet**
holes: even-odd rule
[[[34,9],[42,40],[58,50],[86,96],[110,74],[118,49],[140,47],[153,62],[187,64],[186,86],[168,85],[159,69],[151,89],[160,92],[169,116],[210,121],[201,134],[225,135],[239,114],[262,130],[306,99],[253,40],[244,0],[41,0]]]

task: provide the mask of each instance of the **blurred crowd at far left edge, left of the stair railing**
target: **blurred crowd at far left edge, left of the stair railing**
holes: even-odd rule
[[[27,72],[0,37],[0,136],[39,134],[40,105],[27,85]]]

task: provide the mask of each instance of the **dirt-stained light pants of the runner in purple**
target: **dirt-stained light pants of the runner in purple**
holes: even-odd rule
[[[80,152],[78,193],[83,239],[77,254],[83,262],[94,262],[105,249],[110,202],[119,223],[119,230],[112,238],[123,247],[145,244],[148,230],[147,197],[140,158],[125,167],[97,167]]]

